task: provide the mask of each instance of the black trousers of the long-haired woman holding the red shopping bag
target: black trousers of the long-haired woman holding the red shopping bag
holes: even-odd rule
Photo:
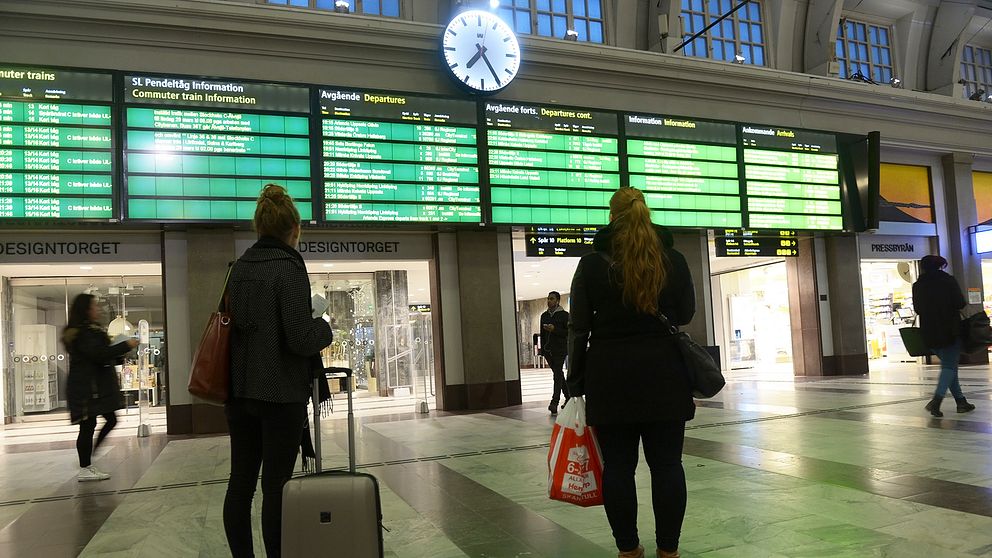
[[[637,469],[639,442],[651,468],[651,501],[654,507],[658,548],[679,547],[685,517],[685,471],[682,469],[684,422],[604,425],[596,428],[603,451],[603,500],[617,548],[623,552],[640,544],[637,537]]]

